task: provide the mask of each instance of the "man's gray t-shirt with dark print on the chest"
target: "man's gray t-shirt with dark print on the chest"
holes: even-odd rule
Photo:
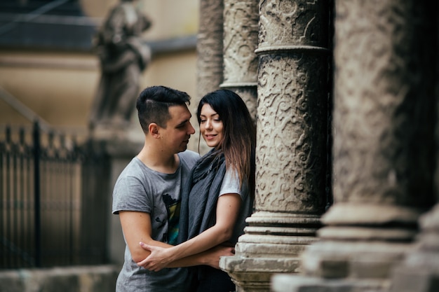
[[[181,188],[200,156],[193,151],[178,153],[180,165],[173,174],[149,169],[133,158],[123,169],[113,191],[113,214],[140,211],[151,216],[152,238],[175,244],[180,216]],[[116,283],[116,292],[187,291],[187,269],[163,269],[150,272],[137,266],[128,246],[125,262]]]

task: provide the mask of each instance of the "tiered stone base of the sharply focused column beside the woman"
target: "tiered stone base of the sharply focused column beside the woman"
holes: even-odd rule
[[[299,255],[316,242],[320,218],[258,211],[247,223],[235,246],[236,255],[222,257],[219,267],[229,273],[236,291],[266,292],[273,274],[300,272]]]

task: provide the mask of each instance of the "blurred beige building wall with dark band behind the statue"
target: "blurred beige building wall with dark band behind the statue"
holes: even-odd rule
[[[87,130],[100,78],[93,36],[117,3],[1,2],[0,87],[14,97],[15,107],[0,99],[0,123],[29,123],[17,112],[22,104],[50,125]],[[167,85],[195,97],[198,1],[142,0],[135,5],[153,22],[143,36],[153,60],[140,88]],[[133,135],[142,139],[133,122]]]

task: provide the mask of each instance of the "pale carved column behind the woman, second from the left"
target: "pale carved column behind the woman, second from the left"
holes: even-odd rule
[[[258,0],[224,0],[224,83],[256,120]]]

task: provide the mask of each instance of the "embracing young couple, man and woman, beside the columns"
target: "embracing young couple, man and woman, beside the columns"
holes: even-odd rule
[[[163,86],[137,99],[144,146],[113,193],[126,241],[116,292],[235,290],[218,262],[233,254],[252,214],[255,126],[241,97],[210,92],[197,118],[212,150],[200,158],[187,150],[195,133],[189,100]]]

